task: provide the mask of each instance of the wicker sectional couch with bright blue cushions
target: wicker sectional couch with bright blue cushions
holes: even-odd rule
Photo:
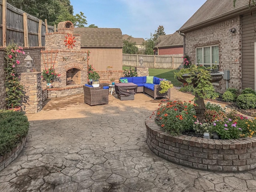
[[[153,77],[153,83],[147,83],[147,77],[142,76],[142,77],[121,77],[121,79],[127,79],[129,83],[134,83],[138,85],[137,88],[137,93],[146,93],[152,96],[154,99],[158,97],[167,97],[170,99],[170,89],[168,90],[167,93],[160,94],[159,91],[161,90],[160,87],[160,78],[158,77]],[[167,95],[166,95],[167,94]]]

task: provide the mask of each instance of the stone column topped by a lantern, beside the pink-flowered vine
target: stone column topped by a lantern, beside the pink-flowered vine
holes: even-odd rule
[[[37,113],[42,109],[41,72],[22,73],[20,82],[24,86],[22,110]]]

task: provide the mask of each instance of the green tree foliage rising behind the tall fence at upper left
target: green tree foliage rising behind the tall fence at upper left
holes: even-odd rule
[[[35,16],[38,19],[47,19],[48,25],[58,25],[62,21],[71,21],[74,26],[84,27],[87,24],[84,13],[74,14],[70,0],[7,0],[12,6]]]

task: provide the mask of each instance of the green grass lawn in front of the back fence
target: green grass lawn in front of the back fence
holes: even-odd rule
[[[123,66],[123,70],[129,69],[128,66]],[[155,76],[159,78],[166,78],[171,81],[174,86],[180,87],[182,86],[182,82],[179,82],[176,78],[174,78],[174,72],[178,72],[177,69],[148,69],[149,76]]]

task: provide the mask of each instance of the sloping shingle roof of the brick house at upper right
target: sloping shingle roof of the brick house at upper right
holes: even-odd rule
[[[248,2],[248,0],[238,0],[234,7],[232,0],[207,0],[178,31],[186,32],[238,13],[249,12]]]

